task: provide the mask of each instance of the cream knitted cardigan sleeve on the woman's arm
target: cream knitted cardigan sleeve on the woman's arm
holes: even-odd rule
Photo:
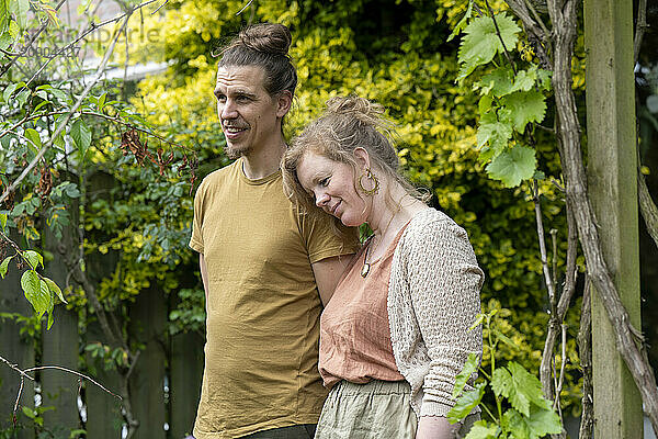
[[[445,416],[468,353],[481,357],[481,328],[468,328],[480,312],[484,273],[466,232],[447,216],[416,232],[407,237],[404,259],[411,306],[430,359],[420,416]]]

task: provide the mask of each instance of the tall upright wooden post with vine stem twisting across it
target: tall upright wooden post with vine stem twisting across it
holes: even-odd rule
[[[631,323],[640,329],[633,2],[586,0],[585,43],[588,187],[605,262]],[[642,399],[615,339],[594,292],[594,437],[639,439]]]

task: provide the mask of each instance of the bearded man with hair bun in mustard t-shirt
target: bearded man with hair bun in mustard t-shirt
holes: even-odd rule
[[[205,368],[194,437],[313,438],[326,391],[319,315],[358,248],[330,219],[284,195],[282,123],[297,75],[281,24],[242,30],[222,52],[214,90],[236,159],[194,198],[190,247],[206,297]]]

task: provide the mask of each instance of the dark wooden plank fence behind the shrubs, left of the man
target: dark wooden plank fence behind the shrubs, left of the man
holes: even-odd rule
[[[58,284],[65,283],[66,269],[57,257],[46,262],[45,273]],[[31,316],[32,308],[21,291],[20,275],[12,263],[7,278],[0,280],[0,312]],[[180,439],[193,427],[203,373],[203,339],[194,333],[168,335],[167,318],[173,305],[164,293],[149,289],[129,307],[131,342],[145,346],[129,382],[134,416],[140,423],[135,435],[138,439]],[[100,327],[80,326],[77,313],[61,305],[55,308],[50,330],[46,331],[44,325],[35,338],[21,337],[15,322],[0,320],[0,356],[21,369],[42,364],[81,371],[117,393],[116,372],[105,371],[84,353],[84,346],[102,340]],[[90,372],[91,369],[94,371]],[[34,408],[36,395],[41,406],[54,407],[44,413],[47,428],[84,428],[89,439],[122,437],[123,418],[117,398],[88,382],[83,384],[84,391],[79,392],[78,378],[59,370],[39,371],[36,376],[39,390],[35,393],[37,387],[25,380],[20,404]],[[19,374],[0,363],[0,431],[12,428],[19,385]],[[15,432],[18,439],[35,437],[33,430]],[[61,437],[68,438],[68,434]]]

